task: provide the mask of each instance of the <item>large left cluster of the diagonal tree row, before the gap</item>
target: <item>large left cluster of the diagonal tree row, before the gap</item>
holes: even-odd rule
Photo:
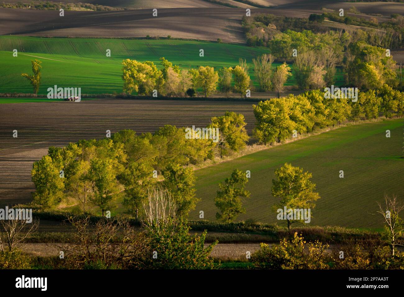
[[[122,130],[111,138],[49,147],[48,155],[33,164],[34,203],[52,208],[68,196],[84,213],[98,206],[104,215],[123,191],[124,206],[138,217],[149,187],[164,179],[176,215],[186,217],[198,201],[194,173],[186,165],[241,150],[249,139],[245,125],[242,114],[226,112],[208,126],[219,129],[215,140],[202,138],[200,131],[187,139],[185,128],[166,125],[154,134]]]

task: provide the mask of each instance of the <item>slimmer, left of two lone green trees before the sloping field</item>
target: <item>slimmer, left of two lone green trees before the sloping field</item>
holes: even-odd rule
[[[242,198],[250,197],[250,192],[244,189],[247,182],[246,174],[236,169],[224,183],[219,183],[221,191],[217,191],[215,198],[215,205],[220,211],[216,213],[219,221],[231,223],[240,213],[246,212],[242,207]]]

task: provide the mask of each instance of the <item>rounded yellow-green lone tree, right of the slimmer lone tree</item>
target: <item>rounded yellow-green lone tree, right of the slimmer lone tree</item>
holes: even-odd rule
[[[275,170],[276,179],[272,179],[272,196],[280,198],[280,202],[274,205],[274,209],[311,209],[316,205],[314,201],[320,195],[314,190],[316,184],[310,181],[311,173],[303,173],[303,169],[285,163],[280,169]],[[287,219],[288,229],[297,221]]]

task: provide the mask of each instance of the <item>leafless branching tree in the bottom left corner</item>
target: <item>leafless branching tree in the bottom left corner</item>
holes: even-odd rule
[[[21,243],[38,228],[38,221],[2,220],[0,225],[0,250],[11,252],[19,249]]]

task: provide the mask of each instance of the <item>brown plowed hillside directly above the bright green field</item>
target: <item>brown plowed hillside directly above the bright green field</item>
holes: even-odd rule
[[[254,9],[307,18],[316,10]],[[226,42],[245,42],[241,27],[243,8],[162,8],[158,17],[150,9],[127,11],[40,11],[0,8],[0,34],[71,37],[167,36]]]

